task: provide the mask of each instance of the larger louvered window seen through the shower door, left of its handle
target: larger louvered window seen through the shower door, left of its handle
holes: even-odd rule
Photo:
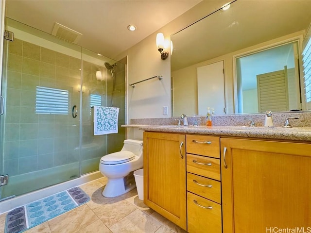
[[[68,115],[69,91],[36,87],[35,113]]]

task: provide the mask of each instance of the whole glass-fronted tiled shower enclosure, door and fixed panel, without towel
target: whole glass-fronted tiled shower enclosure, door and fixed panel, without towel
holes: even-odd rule
[[[0,200],[97,171],[125,139],[124,64],[10,18],[5,29]],[[94,136],[94,105],[120,108],[119,133]]]

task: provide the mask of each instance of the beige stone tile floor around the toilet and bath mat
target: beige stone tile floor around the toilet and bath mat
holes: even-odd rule
[[[186,233],[138,199],[134,189],[116,198],[102,195],[106,178],[80,187],[91,200],[25,231],[26,233]],[[6,214],[0,215],[0,233]]]

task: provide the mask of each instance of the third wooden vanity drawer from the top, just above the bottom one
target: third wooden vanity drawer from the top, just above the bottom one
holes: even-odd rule
[[[187,172],[187,191],[221,203],[221,184],[219,181]]]

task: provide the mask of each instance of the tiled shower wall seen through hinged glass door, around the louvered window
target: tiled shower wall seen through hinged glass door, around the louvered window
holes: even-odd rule
[[[69,90],[69,106],[79,104],[79,93],[74,92],[79,68],[78,58],[19,39],[9,42],[4,170],[11,175],[79,159],[78,153],[69,153],[79,145],[79,121],[69,114],[35,113],[36,86]]]

